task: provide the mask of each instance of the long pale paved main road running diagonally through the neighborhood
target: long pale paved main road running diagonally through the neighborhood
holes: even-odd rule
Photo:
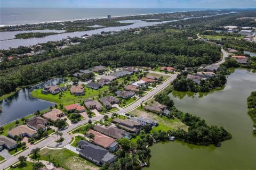
[[[147,95],[141,97],[139,100],[135,101],[133,104],[131,104],[130,106],[127,106],[125,108],[123,108],[121,111],[117,111],[116,113],[118,114],[124,114],[126,112],[130,112],[132,111],[132,109],[136,108],[137,106],[139,106],[141,103],[143,103],[143,101],[146,101],[147,99],[151,98],[152,96],[154,96],[155,94],[157,94],[159,91],[163,90],[165,87],[167,87],[174,79],[177,78],[177,74],[172,74],[172,77],[167,79],[165,82],[163,82],[162,84],[160,84],[159,86],[157,86],[156,88],[154,88],[154,90],[152,91],[149,91]],[[108,116],[111,116],[113,113],[110,113],[110,114],[107,114]],[[91,120],[92,121],[98,121],[98,120],[101,120],[103,118],[104,115],[99,115],[99,116],[95,116],[95,117],[92,117]],[[71,137],[71,135],[68,134],[68,132],[72,129],[75,129],[77,128],[78,126],[80,125],[83,125],[85,123],[88,122],[88,119],[87,120],[83,120],[83,121],[80,121],[76,124],[71,124],[69,126],[68,129],[66,130],[62,130],[60,132],[63,133],[62,137],[63,138],[69,138]],[[31,150],[32,149],[35,149],[35,148],[43,148],[45,146],[54,146],[55,142],[54,140],[56,139],[55,135],[54,136],[51,136],[49,138],[46,138],[45,140],[37,143],[36,145],[33,145],[31,147],[29,147],[27,150],[21,152],[20,154],[6,160],[4,163],[1,164],[1,169],[2,168],[6,168],[6,167],[9,167],[10,165],[12,165],[13,163],[16,163],[18,162],[18,157],[19,156],[27,156],[30,154]],[[54,144],[53,144],[54,143]]]

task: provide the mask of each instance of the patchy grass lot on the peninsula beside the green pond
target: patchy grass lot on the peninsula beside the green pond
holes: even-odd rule
[[[156,127],[156,130],[166,131],[167,128],[170,128],[170,129],[181,128],[184,130],[188,129],[188,126],[183,124],[178,118],[174,118],[174,120],[173,120],[173,119],[167,118],[166,116],[161,117],[155,113],[144,111],[144,109],[142,109],[140,107],[138,107],[134,111],[129,112],[129,114],[134,115],[134,116],[148,117],[148,118],[152,118],[152,119],[158,121],[158,124],[159,125],[161,124],[161,126],[159,126],[159,128]]]

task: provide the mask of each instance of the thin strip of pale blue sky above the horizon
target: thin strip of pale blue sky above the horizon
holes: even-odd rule
[[[1,7],[256,8],[256,0],[0,0]]]

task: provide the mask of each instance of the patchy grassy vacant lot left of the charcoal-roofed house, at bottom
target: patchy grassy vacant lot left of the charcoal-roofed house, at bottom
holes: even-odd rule
[[[47,155],[51,154],[55,162],[60,164],[64,169],[71,170],[96,170],[99,169],[96,165],[88,162],[82,157],[79,157],[74,152],[68,149],[42,149],[40,151],[41,159],[47,161]]]

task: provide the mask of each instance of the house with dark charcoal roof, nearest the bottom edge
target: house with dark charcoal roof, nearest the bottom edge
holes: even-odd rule
[[[79,155],[90,160],[94,164],[103,165],[106,162],[113,163],[117,160],[117,156],[110,154],[107,149],[84,140],[79,141],[77,146],[80,148]]]

